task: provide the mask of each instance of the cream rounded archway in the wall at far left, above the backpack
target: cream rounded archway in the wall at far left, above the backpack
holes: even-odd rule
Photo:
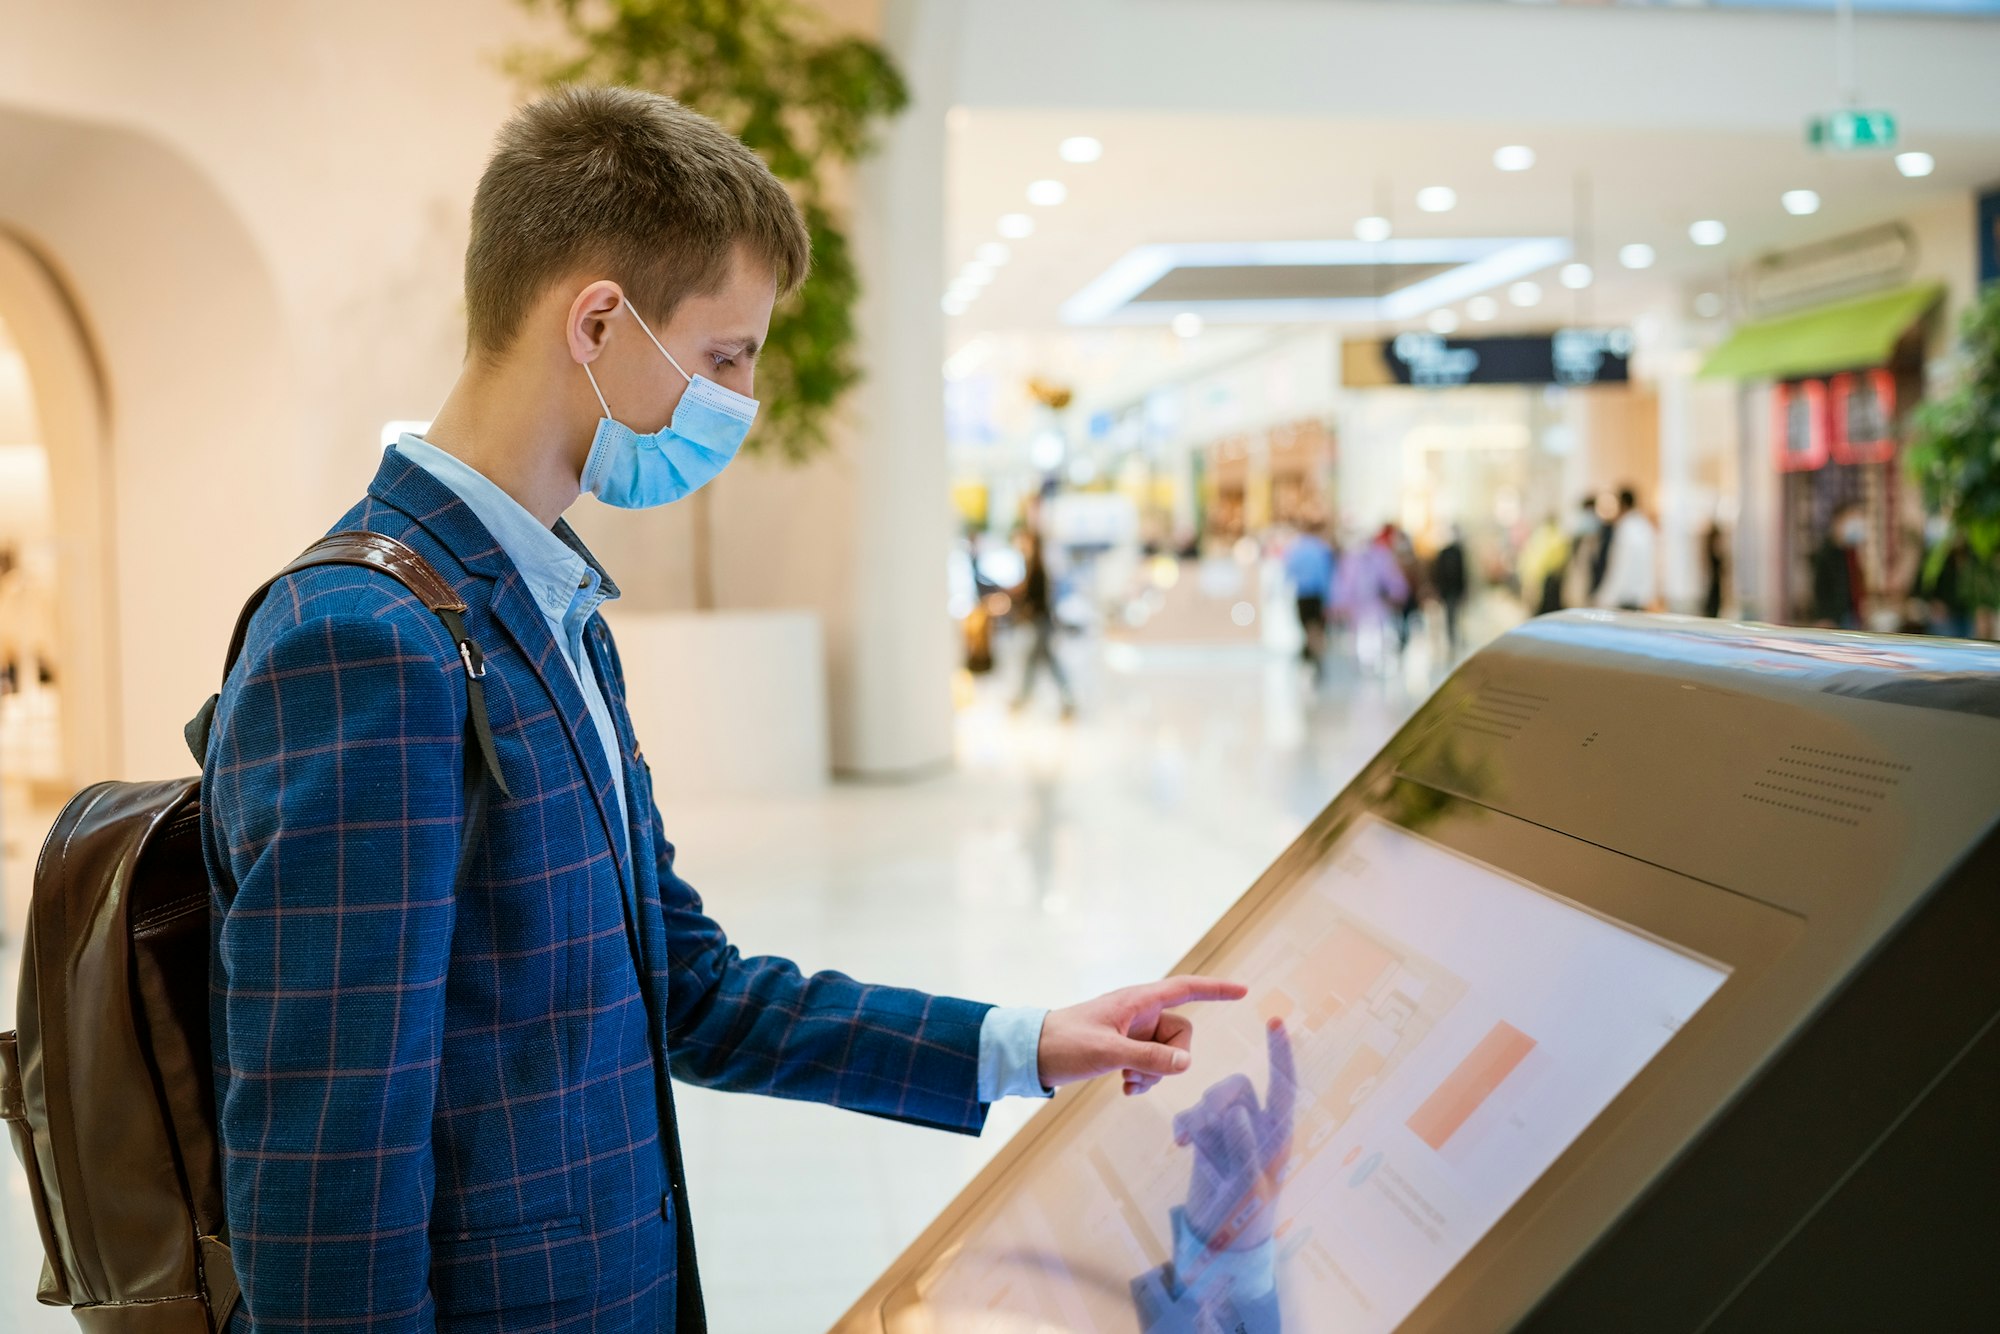
[[[70,778],[184,774],[236,608],[316,510],[282,302],[208,174],[126,126],[0,106],[0,236],[50,452]]]

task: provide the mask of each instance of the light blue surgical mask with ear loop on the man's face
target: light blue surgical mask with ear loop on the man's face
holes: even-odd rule
[[[632,318],[646,330],[646,338],[652,338],[652,346],[660,348],[660,356],[680,370],[680,362],[652,336],[636,310]],[[590,456],[584,460],[584,490],[620,510],[650,510],[698,492],[736,458],[744,436],[750,434],[750,422],[756,420],[754,398],[680,370],[688,388],[680,392],[674,420],[666,430],[640,434],[612,416],[612,406],[604,402],[604,390],[598,388],[588,362],[584,374],[590,376],[590,390],[604,408],[604,420],[598,422]]]

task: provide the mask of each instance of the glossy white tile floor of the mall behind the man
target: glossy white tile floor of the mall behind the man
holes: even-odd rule
[[[1474,626],[1510,618],[1494,602]],[[1254,646],[1072,640],[1064,656],[1074,722],[1058,720],[1048,686],[1012,714],[1002,670],[960,712],[954,772],[668,810],[682,872],[746,952],[1070,1004],[1170,968],[1442,676],[1422,642],[1386,672],[1342,660],[1318,690]],[[14,908],[32,840],[22,812],[8,814],[16,854],[0,902]],[[10,914],[4,1024],[18,938]],[[1002,1104],[972,1140],[688,1088],[682,1142],[712,1326],[828,1328],[1036,1108]],[[70,1330],[66,1312],[34,1304],[40,1256],[10,1156],[0,1176],[0,1328]]]

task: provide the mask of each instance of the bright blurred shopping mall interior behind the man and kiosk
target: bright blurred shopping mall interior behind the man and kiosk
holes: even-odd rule
[[[744,954],[1158,978],[1538,614],[2000,638],[2000,496],[1936,466],[2000,384],[2000,4],[744,8],[906,88],[828,168],[858,382],[568,514]],[[194,770],[242,600],[450,390],[474,186],[580,10],[0,0],[0,1026],[64,802]],[[682,1086],[710,1322],[828,1328],[1040,1110]],[[6,1168],[0,1326],[68,1328]],[[894,1328],[1114,1328],[1038,1320]]]

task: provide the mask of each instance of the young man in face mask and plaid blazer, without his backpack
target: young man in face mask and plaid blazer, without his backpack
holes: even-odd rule
[[[460,866],[472,662],[352,566],[272,590],[206,756],[238,1334],[700,1328],[668,1070],[974,1134],[1006,1094],[1144,1092],[1188,1064],[1168,1010],[1242,994],[994,1010],[802,976],[674,874],[596,616],[618,590],[560,516],[730,460],[806,264],[776,178],[666,98],[576,88],[502,130],[464,372],[334,530],[406,542],[468,604],[506,792]]]

